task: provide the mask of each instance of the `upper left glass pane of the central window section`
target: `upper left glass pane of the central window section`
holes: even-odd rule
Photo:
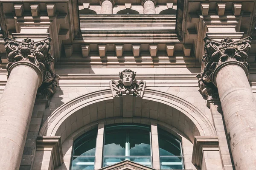
[[[105,156],[125,156],[126,134],[122,132],[106,132],[105,134]]]

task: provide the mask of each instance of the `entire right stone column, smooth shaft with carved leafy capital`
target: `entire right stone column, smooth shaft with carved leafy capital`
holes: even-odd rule
[[[256,169],[256,100],[247,79],[249,38],[204,38],[205,68],[198,75],[204,96],[214,94],[214,85],[218,88],[236,170]]]

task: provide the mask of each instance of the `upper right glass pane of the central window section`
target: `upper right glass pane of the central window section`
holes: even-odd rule
[[[130,132],[130,156],[150,156],[150,136],[149,132]]]

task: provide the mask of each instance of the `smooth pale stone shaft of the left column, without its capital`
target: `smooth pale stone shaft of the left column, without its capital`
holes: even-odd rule
[[[28,62],[16,62],[0,99],[0,170],[18,170],[42,74]]]

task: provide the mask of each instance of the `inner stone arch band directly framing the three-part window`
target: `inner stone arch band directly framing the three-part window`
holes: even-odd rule
[[[65,170],[69,169],[70,167],[70,160],[72,159],[72,148],[74,141],[82,136],[84,133],[87,133],[90,130],[96,129],[98,127],[99,123],[104,123],[104,125],[111,125],[115,123],[140,123],[143,125],[151,125],[151,123],[157,124],[158,127],[161,129],[171,133],[173,136],[175,136],[177,139],[180,139],[182,142],[182,150],[184,155],[184,164],[185,167],[188,167],[189,169],[196,169],[196,167],[191,164],[191,157],[192,157],[192,150],[193,150],[193,144],[189,140],[189,138],[182,133],[180,130],[178,130],[176,127],[173,127],[172,125],[169,125],[165,122],[157,121],[155,119],[150,118],[144,118],[144,117],[137,117],[136,119],[130,119],[130,118],[123,118],[123,117],[112,117],[112,118],[106,118],[101,119],[100,121],[91,122],[87,125],[84,125],[83,127],[79,128],[75,132],[73,132],[70,136],[67,137],[65,141],[63,141],[62,149],[63,149],[63,156],[64,156],[64,164],[57,167],[56,170]]]

